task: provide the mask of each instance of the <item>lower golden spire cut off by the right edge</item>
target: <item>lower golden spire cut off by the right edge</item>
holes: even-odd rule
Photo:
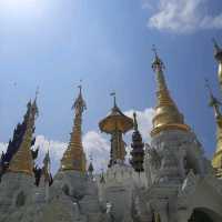
[[[212,165],[216,171],[216,176],[222,178],[222,113],[220,110],[221,102],[213,95],[208,80],[206,88],[209,89],[210,93],[209,105],[213,108],[216,121],[216,149],[213,155]]]

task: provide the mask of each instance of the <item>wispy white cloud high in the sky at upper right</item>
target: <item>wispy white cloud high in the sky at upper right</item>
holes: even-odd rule
[[[175,33],[221,29],[222,13],[208,14],[205,9],[210,3],[210,0],[159,0],[159,6],[149,18],[148,26]]]

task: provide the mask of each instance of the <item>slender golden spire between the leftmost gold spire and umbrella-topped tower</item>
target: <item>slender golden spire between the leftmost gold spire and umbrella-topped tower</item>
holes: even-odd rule
[[[82,87],[79,85],[79,97],[74,101],[74,123],[67,151],[61,160],[61,170],[75,170],[85,172],[85,154],[82,145],[82,114],[87,104],[82,98]]]

